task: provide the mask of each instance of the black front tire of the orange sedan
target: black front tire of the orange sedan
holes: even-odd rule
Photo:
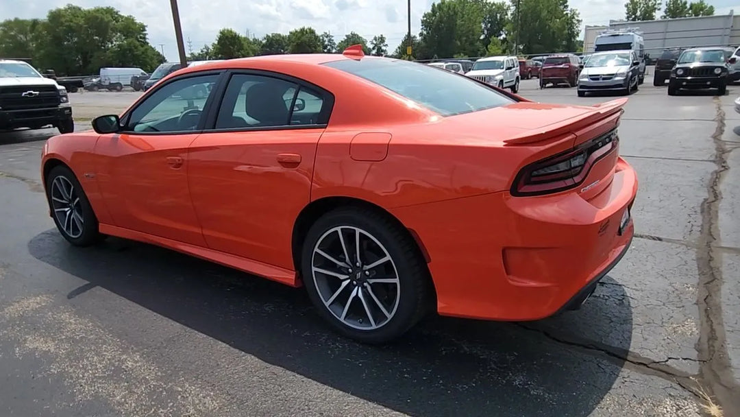
[[[60,199],[60,197],[61,199],[66,199],[65,196],[61,196],[58,193],[58,186],[55,185],[55,180],[57,179],[61,179],[61,181],[67,181],[64,184],[72,184],[73,200],[79,199],[79,201],[75,203],[75,212],[71,215],[71,218],[69,220],[70,223],[68,224],[68,227],[72,228],[71,230],[73,230],[73,233],[67,232],[67,230],[65,229],[65,225],[61,224],[61,220],[58,218],[58,216],[56,216],[57,212],[55,211],[55,209],[65,206],[60,201],[57,201],[55,199]],[[46,178],[46,193],[47,201],[49,202],[49,207],[51,210],[51,217],[54,220],[54,224],[56,224],[56,228],[57,230],[59,230],[59,233],[61,233],[61,236],[65,238],[68,242],[70,242],[70,244],[83,247],[90,246],[91,244],[95,244],[98,241],[101,241],[105,237],[104,235],[101,235],[101,233],[98,231],[98,218],[92,211],[90,201],[87,199],[82,186],[80,185],[79,181],[77,181],[77,178],[75,177],[75,174],[72,172],[72,170],[65,167],[64,165],[57,165],[56,167],[53,167]],[[81,216],[81,227],[78,226],[78,222],[75,222],[75,224],[72,225],[75,213]],[[62,221],[66,223],[66,220],[62,219]],[[81,233],[79,233],[78,235],[78,232],[80,231]]]

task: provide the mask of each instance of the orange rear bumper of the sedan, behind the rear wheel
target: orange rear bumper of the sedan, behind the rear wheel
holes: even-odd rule
[[[624,256],[634,226],[619,224],[636,193],[635,171],[618,159],[588,200],[494,193],[391,212],[429,254],[441,315],[528,321],[579,304]]]

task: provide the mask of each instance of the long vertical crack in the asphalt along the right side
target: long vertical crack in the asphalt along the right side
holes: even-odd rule
[[[719,235],[719,203],[722,199],[719,184],[724,178],[724,173],[730,169],[727,163],[730,149],[727,148],[726,142],[721,140],[725,120],[719,97],[714,98],[714,104],[717,125],[712,139],[716,169],[707,184],[707,198],[702,201],[702,228],[696,250],[696,264],[699,269],[699,292],[696,301],[699,307],[699,341],[696,350],[699,358],[703,359],[699,365],[699,383],[715,396],[727,416],[740,416],[740,396],[736,395],[740,385],[733,378],[730,368],[722,317],[721,251],[715,247]]]

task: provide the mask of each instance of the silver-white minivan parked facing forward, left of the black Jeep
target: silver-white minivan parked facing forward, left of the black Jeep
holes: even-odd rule
[[[596,91],[637,90],[640,61],[633,50],[610,50],[593,53],[582,65],[578,78],[578,96]]]

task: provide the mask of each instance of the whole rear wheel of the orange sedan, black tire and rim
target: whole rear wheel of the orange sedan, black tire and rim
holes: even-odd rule
[[[301,272],[320,316],[363,343],[402,336],[431,306],[415,241],[374,210],[348,207],[319,218],[303,244]]]

